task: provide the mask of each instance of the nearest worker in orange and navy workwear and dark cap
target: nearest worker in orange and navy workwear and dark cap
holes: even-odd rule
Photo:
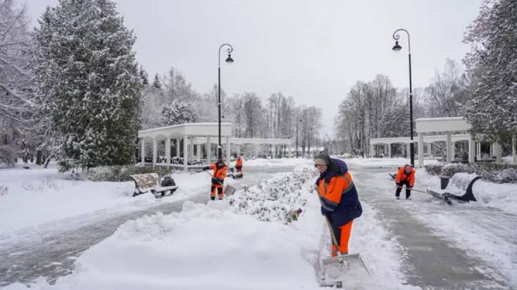
[[[337,256],[338,250],[346,255],[352,222],[363,213],[356,186],[343,160],[319,154],[314,159],[314,167],[320,172],[316,187],[321,202],[321,214],[327,218],[334,234],[333,240],[335,238],[331,255]]]

